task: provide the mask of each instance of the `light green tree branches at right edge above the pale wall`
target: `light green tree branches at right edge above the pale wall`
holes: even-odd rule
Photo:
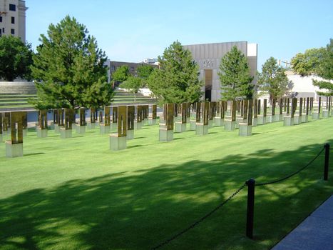
[[[317,91],[323,96],[333,95],[333,39],[329,40],[326,48],[307,49],[304,54],[299,53],[292,58],[292,69],[301,76],[311,74],[322,77],[324,80],[314,80],[314,86],[324,91]]]

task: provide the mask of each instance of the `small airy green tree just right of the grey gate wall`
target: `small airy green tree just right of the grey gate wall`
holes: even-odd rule
[[[262,65],[258,73],[257,86],[261,91],[267,91],[271,99],[282,98],[292,89],[292,81],[287,79],[285,69],[277,65],[277,60],[270,57]]]

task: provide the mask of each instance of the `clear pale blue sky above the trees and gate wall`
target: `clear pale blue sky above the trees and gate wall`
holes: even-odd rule
[[[33,48],[48,25],[69,14],[86,25],[114,61],[157,57],[173,41],[258,44],[258,69],[270,56],[290,60],[333,38],[332,0],[26,0]]]

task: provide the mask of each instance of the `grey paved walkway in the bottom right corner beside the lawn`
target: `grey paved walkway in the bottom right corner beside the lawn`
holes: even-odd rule
[[[333,195],[272,250],[333,250]]]

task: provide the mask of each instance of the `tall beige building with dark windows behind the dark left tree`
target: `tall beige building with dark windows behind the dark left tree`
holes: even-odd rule
[[[0,0],[0,36],[17,36],[26,42],[26,2]]]

